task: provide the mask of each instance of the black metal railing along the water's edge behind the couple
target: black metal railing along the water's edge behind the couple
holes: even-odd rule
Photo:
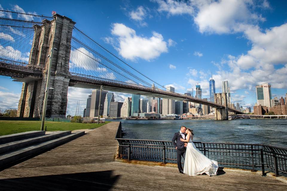
[[[121,138],[121,124],[116,138],[118,157],[128,160],[176,162],[176,149],[172,141]],[[244,167],[251,171],[272,171],[276,176],[287,175],[287,149],[263,144],[193,142],[208,158],[222,166]]]

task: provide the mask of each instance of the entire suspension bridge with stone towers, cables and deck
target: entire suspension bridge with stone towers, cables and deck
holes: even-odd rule
[[[32,15],[0,10],[0,75],[23,82],[17,115],[39,117],[51,59],[46,116],[65,117],[68,87],[139,94],[191,101],[216,108],[217,120],[228,119],[226,93],[215,102],[167,90],[55,14]],[[51,52],[53,51],[53,56]]]

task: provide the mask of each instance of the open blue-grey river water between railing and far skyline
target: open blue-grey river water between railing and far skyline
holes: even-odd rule
[[[268,144],[287,148],[286,119],[110,121],[122,122],[123,138],[171,140],[184,125],[194,130],[193,141]]]

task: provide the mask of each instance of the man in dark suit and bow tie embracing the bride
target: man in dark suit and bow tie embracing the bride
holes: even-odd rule
[[[186,133],[185,133],[186,127],[181,126],[180,131],[175,133],[173,138],[172,138],[172,144],[176,149],[177,152],[177,167],[179,170],[179,173],[183,174],[183,169],[181,166],[181,157],[185,157],[185,151],[186,151],[186,146],[187,143],[183,142],[180,140],[180,138],[183,138],[184,140],[186,140]],[[176,141],[176,143],[175,143]]]

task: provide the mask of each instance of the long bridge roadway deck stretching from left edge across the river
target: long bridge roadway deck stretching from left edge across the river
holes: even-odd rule
[[[30,82],[40,80],[42,78],[43,72],[46,72],[45,67],[43,66],[29,65],[23,62],[11,61],[0,58],[0,75],[9,76],[13,78],[13,81]],[[51,75],[56,74],[51,73]],[[161,90],[156,87],[146,87],[139,84],[131,84],[127,82],[98,78],[94,76],[87,76],[71,72],[67,75],[67,78],[70,78],[70,87],[100,89],[100,86],[103,85],[103,89],[108,91],[139,94],[143,96],[167,98],[178,101],[191,101],[194,103],[204,104],[211,107],[224,108],[224,106],[221,104],[216,104],[211,101],[187,96],[180,93]],[[228,108],[228,110],[235,113],[242,113],[232,108]]]

